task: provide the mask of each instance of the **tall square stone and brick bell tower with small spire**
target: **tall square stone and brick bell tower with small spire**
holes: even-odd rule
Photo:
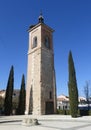
[[[44,23],[29,27],[29,49],[25,114],[56,113],[56,81],[54,70],[53,29]]]

